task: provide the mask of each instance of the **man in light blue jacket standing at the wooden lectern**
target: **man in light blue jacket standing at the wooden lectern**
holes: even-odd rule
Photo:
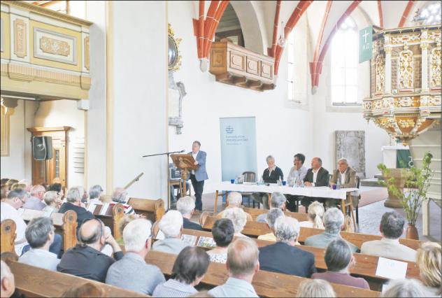
[[[201,196],[203,195],[204,180],[208,179],[206,172],[206,152],[199,150],[201,143],[194,141],[192,144],[192,152],[189,154],[195,159],[195,164],[198,165],[197,170],[192,170],[190,173],[190,180],[195,192],[195,209],[203,211],[203,201]]]

